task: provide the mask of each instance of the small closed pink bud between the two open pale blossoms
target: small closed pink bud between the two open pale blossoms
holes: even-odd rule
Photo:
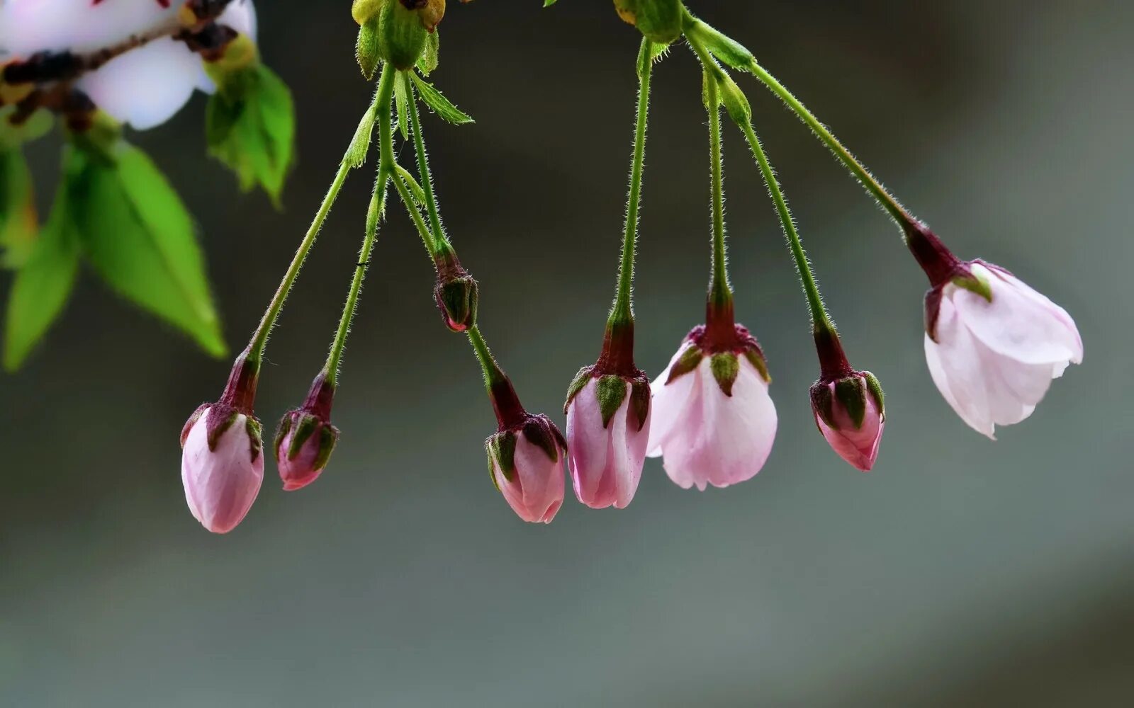
[[[837,381],[816,381],[811,411],[819,432],[844,460],[870,471],[878,459],[886,424],[882,387],[870,372],[852,372]]]

